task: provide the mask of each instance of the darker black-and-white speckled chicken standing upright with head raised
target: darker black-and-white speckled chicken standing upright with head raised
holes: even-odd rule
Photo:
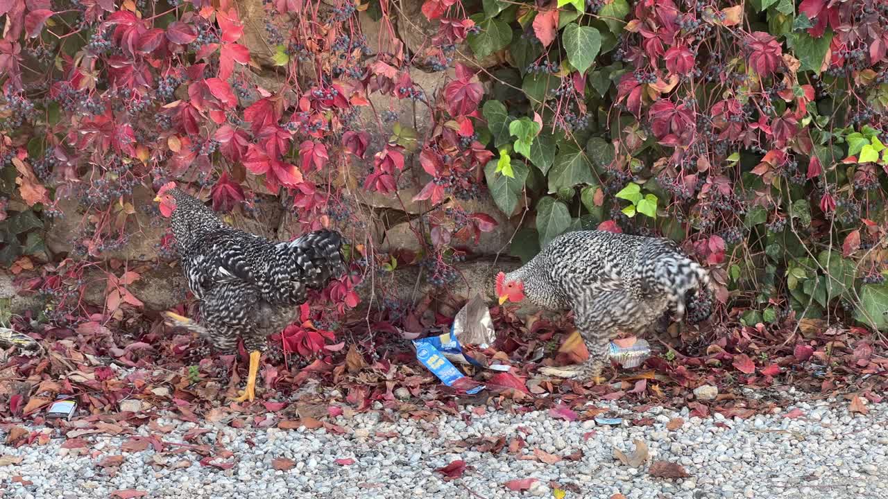
[[[227,226],[173,182],[160,188],[155,202],[170,217],[182,271],[200,302],[201,321],[171,312],[167,320],[198,333],[219,352],[236,353],[243,339],[250,371],[236,400],[253,400],[266,337],[296,318],[308,289],[322,289],[346,272],[342,237],[321,230],[272,242]]]

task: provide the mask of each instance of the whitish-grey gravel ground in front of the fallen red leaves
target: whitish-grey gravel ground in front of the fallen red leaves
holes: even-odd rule
[[[597,407],[620,410],[614,404],[599,403]],[[203,423],[210,432],[191,443],[213,448],[220,445],[233,452],[233,457],[219,460],[234,463],[228,470],[202,466],[198,463],[202,456],[187,448],[122,452],[129,435],[84,435],[81,438],[89,442],[85,449],[61,448],[65,439],[52,438],[43,446],[0,446],[0,456],[23,458],[18,464],[0,466],[0,497],[107,498],[116,490],[135,489],[147,492],[145,497],[176,499],[492,499],[553,497],[551,482],[567,486],[568,499],[608,499],[617,493],[630,499],[888,497],[888,403],[868,404],[866,416],[849,414],[846,400],[803,401],[793,408],[802,415],[786,417],[784,410],[747,420],[725,420],[718,414],[689,417],[686,409],[679,413],[662,408],[626,413],[628,419],[654,418],[650,426],[567,422],[553,418],[548,411],[523,415],[488,412],[472,416],[471,424],[453,416],[440,416],[433,423],[401,419],[396,424],[379,422],[377,415],[340,416],[335,424],[345,427],[345,434],[305,427],[235,429]],[[472,411],[462,408],[462,414],[474,414]],[[685,423],[676,430],[667,429],[666,424],[675,417]],[[160,435],[168,442],[181,442],[185,432],[196,426],[170,419],[159,422],[176,426]],[[137,434],[155,432],[142,426]],[[506,446],[498,454],[455,451],[452,440],[479,436],[502,436]],[[508,444],[515,437],[522,437],[527,445],[513,454]],[[630,468],[614,459],[614,447],[629,455],[635,439],[646,442],[650,457],[638,468]],[[551,464],[519,459],[533,455],[537,448],[559,456],[582,450],[583,457]],[[109,455],[123,455],[123,464],[100,467],[99,462]],[[275,471],[272,461],[277,458],[290,459],[295,465]],[[336,463],[347,458],[354,463]],[[461,479],[445,481],[435,469],[456,459],[463,459],[473,469],[465,471]],[[680,463],[691,477],[650,476],[651,464],[661,460]],[[503,486],[512,479],[528,478],[537,481],[525,492]]]

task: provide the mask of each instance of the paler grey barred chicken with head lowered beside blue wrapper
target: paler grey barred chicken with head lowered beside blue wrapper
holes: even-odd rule
[[[527,264],[496,275],[500,305],[524,298],[549,310],[572,310],[589,360],[543,368],[549,376],[601,383],[609,343],[620,331],[641,334],[666,313],[681,321],[687,297],[710,293],[709,273],[669,240],[606,231],[553,239]]]

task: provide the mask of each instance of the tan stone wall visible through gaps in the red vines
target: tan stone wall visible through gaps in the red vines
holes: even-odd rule
[[[250,66],[250,77],[258,86],[268,91],[280,91],[284,78],[274,67],[272,51],[265,41],[265,10],[262,0],[239,0],[239,11],[244,21],[245,32],[241,42],[250,49],[252,59],[257,63]],[[383,25],[373,21],[366,12],[360,14],[360,25],[364,36],[367,37],[369,46],[374,51],[398,51],[404,50],[408,54],[424,53],[429,37],[436,29],[436,23],[425,20],[420,12],[422,2],[420,0],[408,0],[400,2],[400,10],[393,12],[392,23]],[[393,36],[392,36],[393,35]],[[467,46],[457,48],[457,59],[468,57],[471,54]],[[496,56],[481,61],[473,61],[482,67],[491,67],[498,61]],[[306,71],[306,74],[308,71]],[[443,86],[454,76],[452,69],[443,72],[425,72],[419,68],[411,70],[411,76],[416,86],[422,88],[426,95],[434,95],[440,92]],[[179,89],[181,91],[181,89]],[[253,99],[258,94],[253,92]],[[182,96],[186,97],[186,96]],[[427,107],[416,105],[410,99],[393,99],[387,96],[374,94],[371,103],[377,112],[392,109],[399,115],[401,125],[416,128],[419,138],[430,132],[432,116]],[[243,102],[250,105],[250,102]],[[393,123],[379,123],[376,115],[370,108],[362,108],[360,116],[366,126],[364,130],[373,135],[372,144],[380,146],[392,133]],[[380,127],[380,125],[382,125]],[[377,149],[378,150],[378,149]],[[408,162],[415,162],[418,171],[415,178],[407,184],[400,186],[398,194],[384,195],[369,193],[361,187],[359,181],[364,173],[359,171],[361,164],[353,165],[353,172],[345,180],[340,180],[341,186],[345,186],[345,201],[352,206],[353,215],[344,221],[336,222],[337,228],[345,234],[346,238],[355,243],[363,243],[372,247],[377,252],[391,252],[398,249],[418,251],[421,244],[416,238],[411,224],[416,226],[420,215],[430,208],[428,202],[413,202],[412,198],[420,188],[428,181],[428,176],[418,167],[416,157],[408,158]],[[261,182],[250,183],[259,194],[263,193]],[[134,194],[134,204],[150,204],[154,193],[147,187],[139,187]],[[255,214],[244,215],[240,212],[226,215],[226,222],[231,225],[249,231],[252,234],[260,234],[271,239],[289,240],[304,229],[297,220],[284,210],[281,205],[289,204],[290,200],[280,200],[266,193],[260,195],[258,211]],[[400,198],[400,199],[399,199]],[[492,233],[482,234],[480,243],[471,245],[473,255],[469,261],[459,264],[457,271],[460,279],[448,287],[451,298],[470,297],[475,293],[482,293],[491,301],[493,297],[493,276],[497,271],[509,271],[518,264],[510,257],[499,257],[496,269],[493,268],[494,257],[500,251],[508,249],[511,235],[514,234],[519,215],[509,217],[503,214],[489,197],[485,194],[480,199],[470,202],[458,202],[467,212],[481,211],[496,218],[499,223]],[[81,210],[75,201],[63,202],[60,208],[65,211],[66,217],[47,224],[45,229],[45,241],[50,257],[58,259],[65,257],[73,249],[74,239],[79,232],[78,224],[83,219]],[[160,242],[165,232],[166,220],[163,225],[152,223],[151,216],[146,212],[137,210],[137,213],[128,223],[129,243],[120,249],[114,249],[102,254],[107,260],[112,258],[127,260],[130,267],[141,274],[141,279],[130,286],[131,292],[145,303],[148,312],[159,312],[181,303],[186,294],[186,282],[175,262],[164,262],[157,254],[156,244]],[[160,262],[160,263],[158,263]],[[361,303],[366,306],[373,302],[370,292],[373,289],[385,289],[391,296],[407,300],[416,300],[429,292],[434,292],[420,275],[417,265],[400,266],[394,273],[387,273],[378,277],[378,280],[361,287]],[[4,273],[4,296],[12,294],[12,276]],[[93,304],[101,304],[104,297],[104,285],[102,273],[92,271],[86,276],[86,299]],[[440,293],[439,293],[440,294]],[[449,300],[453,301],[453,300]],[[15,312],[27,308],[39,306],[34,299],[16,298],[12,302]]]

